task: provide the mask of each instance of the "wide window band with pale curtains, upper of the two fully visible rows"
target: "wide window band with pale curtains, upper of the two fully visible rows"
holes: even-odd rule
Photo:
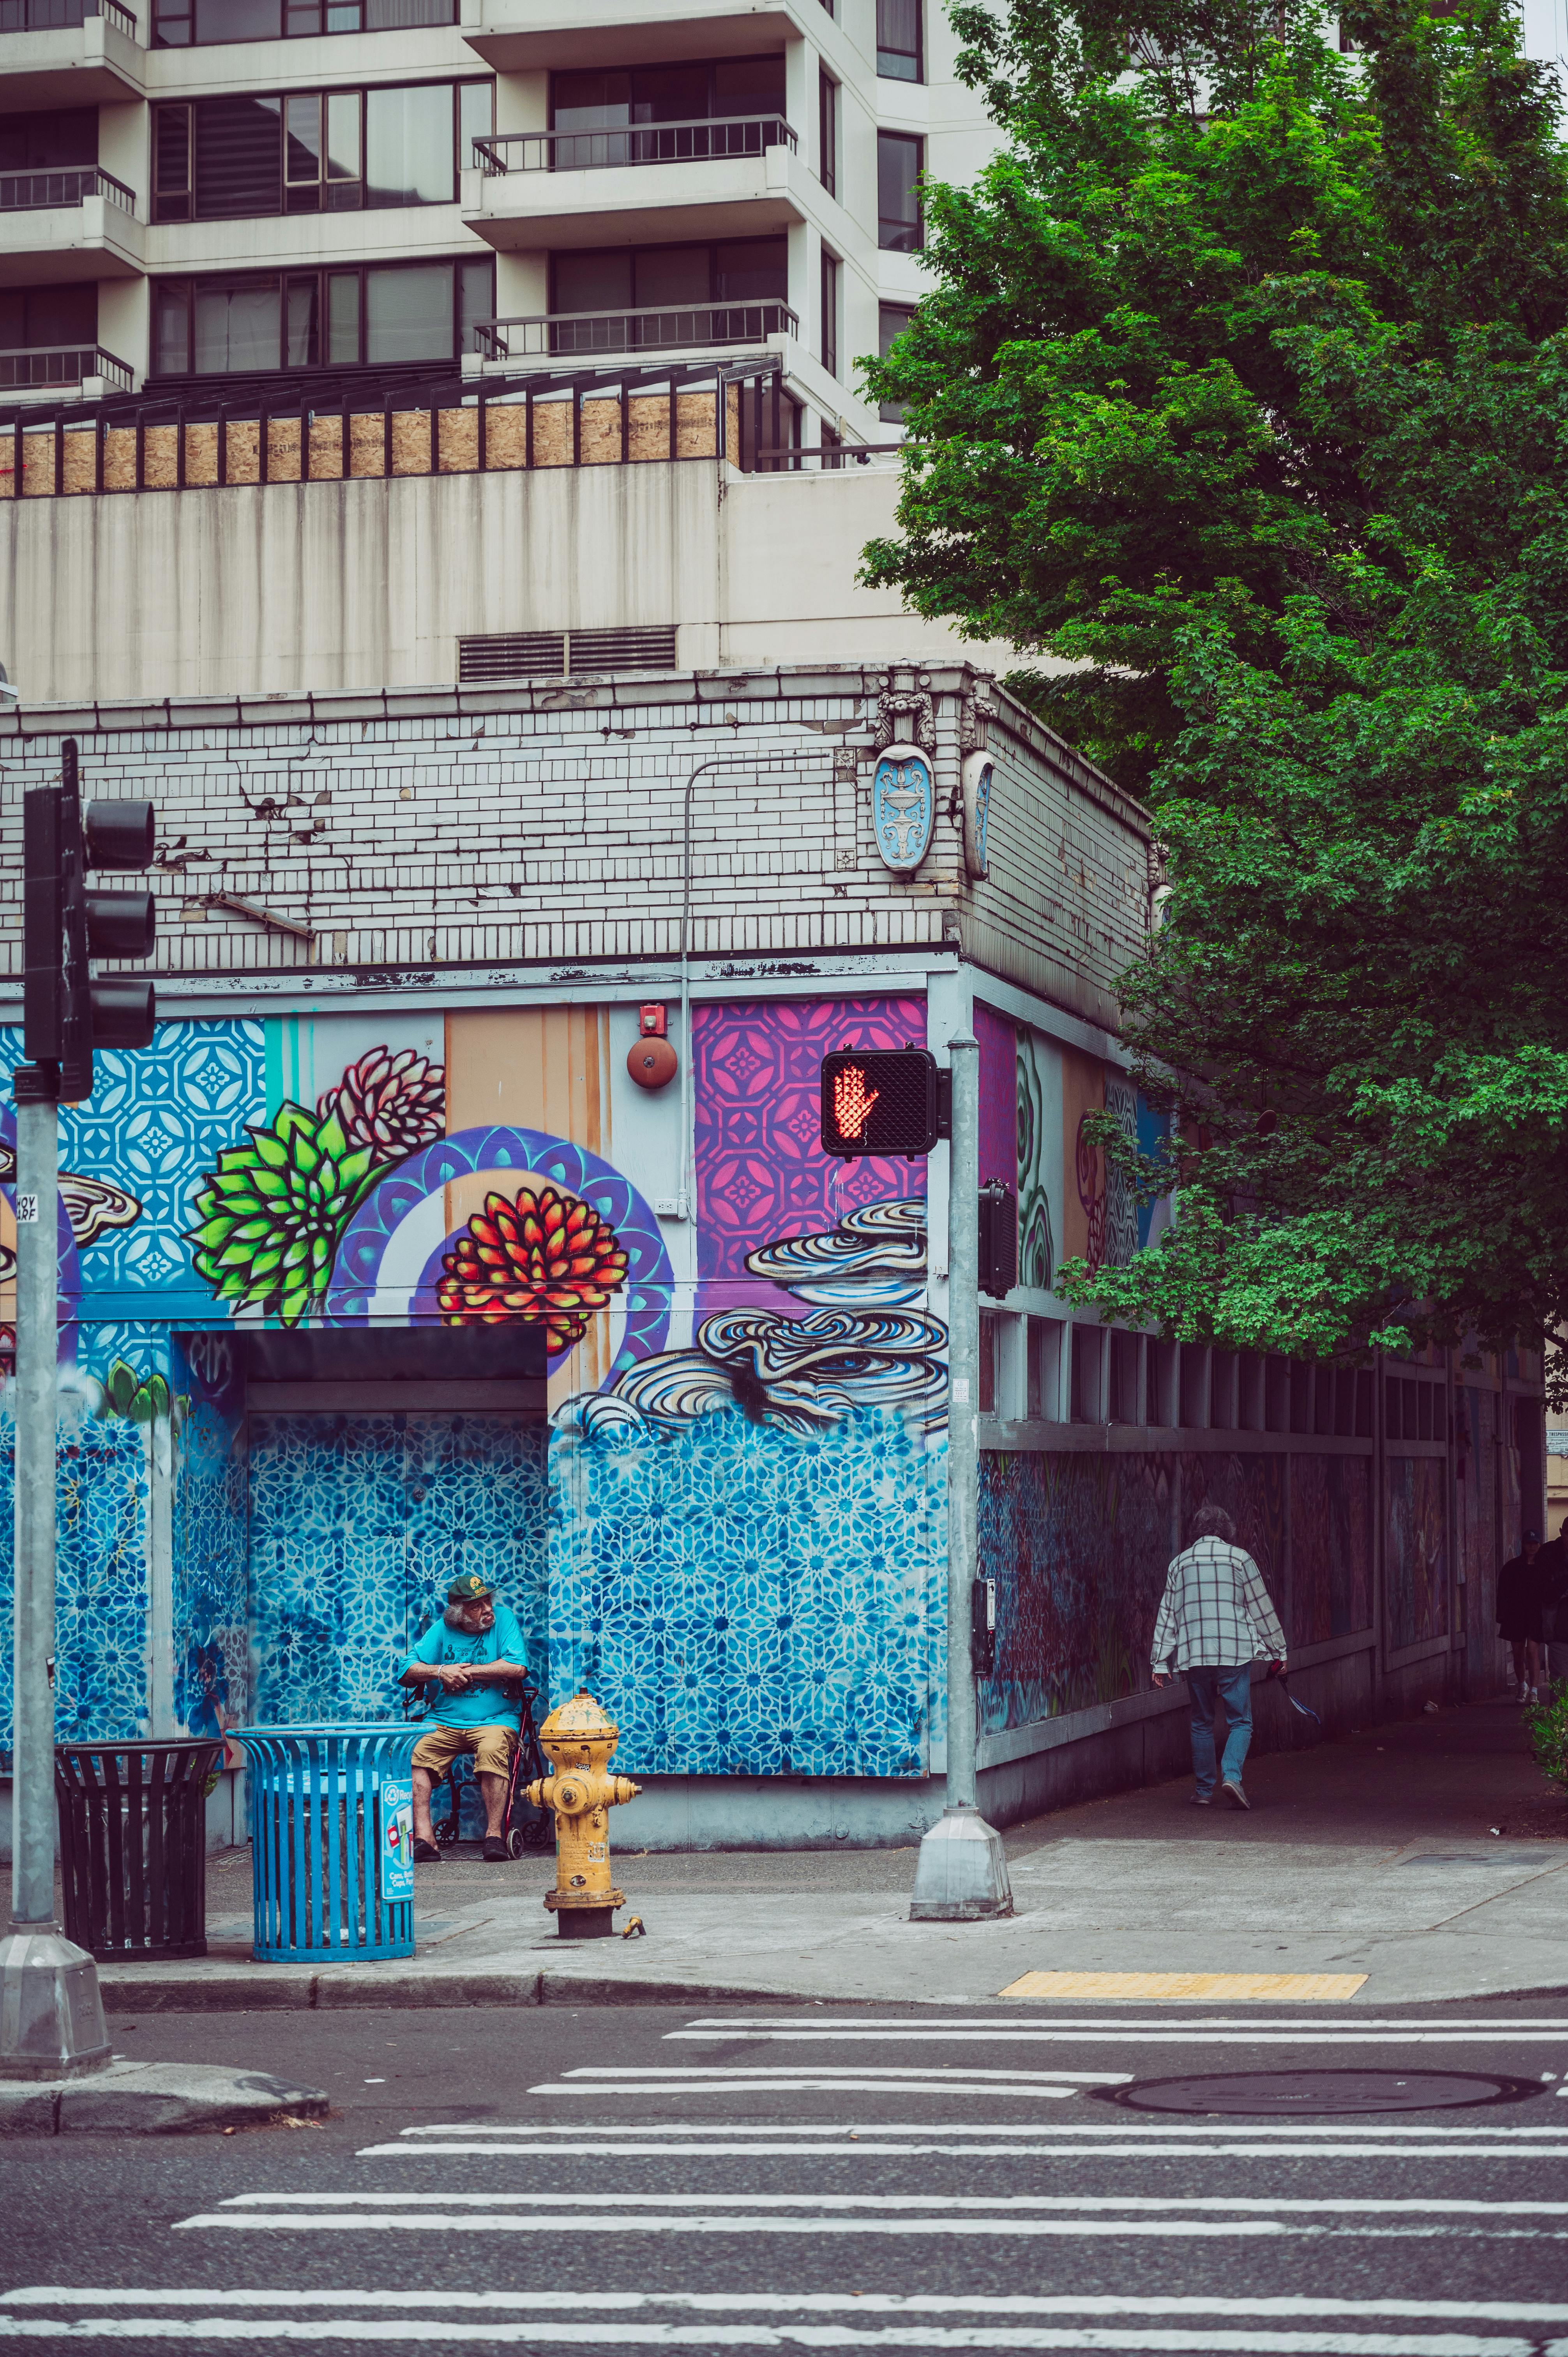
[[[156,106],[153,219],[450,205],[457,165],[493,113],[488,78]]]

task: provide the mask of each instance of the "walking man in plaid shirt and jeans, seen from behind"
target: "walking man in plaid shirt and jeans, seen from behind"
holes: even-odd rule
[[[1193,1704],[1193,1808],[1214,1798],[1214,1711],[1224,1711],[1226,1747],[1219,1789],[1231,1808],[1250,1808],[1240,1772],[1252,1742],[1252,1662],[1266,1655],[1285,1669],[1285,1631],[1269,1603],[1264,1574],[1236,1544],[1224,1506],[1198,1506],[1186,1525],[1186,1549],[1165,1574],[1155,1619],[1153,1681],[1165,1685],[1172,1662]]]

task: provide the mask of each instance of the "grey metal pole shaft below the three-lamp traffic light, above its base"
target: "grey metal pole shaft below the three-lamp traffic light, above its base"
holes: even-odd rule
[[[59,1113],[17,1105],[17,1716],[12,1916],[54,1921],[54,1365]]]

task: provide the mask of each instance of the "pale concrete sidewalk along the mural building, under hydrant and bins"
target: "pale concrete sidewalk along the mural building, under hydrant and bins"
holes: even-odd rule
[[[639,1855],[615,1813],[620,1916],[646,1940],[566,1945],[554,1862],[417,1874],[417,1954],[250,1961],[250,1857],[210,1860],[210,1954],[101,1966],[116,2013],[613,2003],[724,1996],[986,2003],[1033,1970],[1365,1973],[1358,2003],[1568,1992],[1568,1801],[1518,1711],[1474,1704],[1254,1756],[1252,1813],[1191,1787],[1059,1810],[1007,1836],[1016,1914],[910,1923],[915,1850]]]

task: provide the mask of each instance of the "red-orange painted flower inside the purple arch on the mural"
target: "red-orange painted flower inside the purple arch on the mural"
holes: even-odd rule
[[[516,1202],[486,1195],[441,1261],[436,1301],[446,1325],[542,1325],[549,1351],[582,1341],[592,1310],[608,1306],[627,1256],[589,1202],[552,1186],[523,1186]]]

